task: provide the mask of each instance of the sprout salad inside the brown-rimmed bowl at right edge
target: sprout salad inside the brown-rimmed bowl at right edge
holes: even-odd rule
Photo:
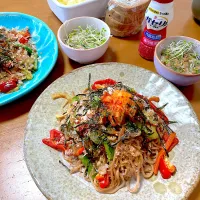
[[[199,74],[200,55],[194,49],[195,44],[192,42],[173,41],[161,52],[161,62],[179,73]]]

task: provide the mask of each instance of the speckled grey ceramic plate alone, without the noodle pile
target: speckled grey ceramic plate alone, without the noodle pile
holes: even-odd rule
[[[178,121],[171,126],[177,132],[180,144],[171,153],[177,173],[169,180],[160,175],[150,180],[142,180],[137,194],[127,192],[126,188],[115,194],[100,194],[80,176],[70,175],[59,164],[59,152],[42,144],[42,138],[49,136],[49,130],[57,127],[55,115],[61,110],[63,101],[52,100],[55,92],[81,92],[87,87],[88,75],[94,82],[98,79],[112,78],[133,87],[139,93],[160,97],[160,105],[169,103],[165,112],[170,120]],[[196,186],[200,176],[200,128],[198,119],[189,102],[171,83],[162,77],[132,65],[120,63],[94,64],[57,79],[37,99],[33,105],[26,127],[24,154],[28,169],[42,193],[52,200],[180,200],[186,199]],[[156,185],[161,185],[156,192]],[[174,186],[175,185],[175,186]],[[156,187],[155,187],[156,186]]]

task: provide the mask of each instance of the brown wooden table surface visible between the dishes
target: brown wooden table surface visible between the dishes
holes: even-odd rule
[[[200,25],[193,20],[191,0],[175,1],[175,16],[168,27],[168,36],[186,35],[200,40]],[[40,18],[56,34],[61,22],[49,9],[45,0],[5,0],[0,11],[22,12]],[[141,33],[129,38],[112,37],[109,48],[99,62],[123,62],[134,64],[155,72],[153,62],[142,59],[138,54]],[[23,155],[24,128],[31,106],[42,91],[55,79],[81,65],[69,60],[59,48],[57,63],[36,89],[13,103],[0,107],[0,199],[1,200],[45,200],[32,180]],[[200,119],[200,83],[179,88],[190,101]],[[189,200],[200,199],[200,184]]]

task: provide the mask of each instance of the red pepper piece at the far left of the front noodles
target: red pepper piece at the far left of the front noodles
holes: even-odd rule
[[[50,138],[44,138],[42,142],[58,151],[65,151],[67,149],[64,143],[64,134],[56,129],[50,130]]]

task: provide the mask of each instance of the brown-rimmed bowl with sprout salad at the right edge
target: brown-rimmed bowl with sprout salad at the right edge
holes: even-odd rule
[[[155,48],[157,72],[179,86],[200,81],[200,41],[186,36],[171,36]]]

